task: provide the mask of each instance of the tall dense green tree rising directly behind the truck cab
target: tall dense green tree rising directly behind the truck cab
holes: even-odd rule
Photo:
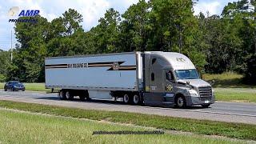
[[[178,51],[189,56],[201,70],[205,65],[202,37],[190,0],[152,0],[154,50]]]

